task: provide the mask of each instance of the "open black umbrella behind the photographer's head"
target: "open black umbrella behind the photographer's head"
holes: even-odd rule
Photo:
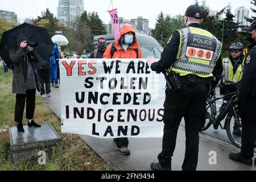
[[[30,42],[38,43],[34,50],[42,58],[35,65],[36,68],[46,64],[45,60],[49,60],[54,44],[48,34],[46,28],[37,27],[32,24],[23,23],[9,31],[3,33],[0,43],[0,56],[7,64],[8,68],[13,69],[13,64],[9,56],[10,48],[16,47],[15,37],[19,34],[26,34]]]

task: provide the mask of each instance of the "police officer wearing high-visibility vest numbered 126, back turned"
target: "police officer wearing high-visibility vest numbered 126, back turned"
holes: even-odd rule
[[[222,44],[210,32],[200,28],[203,22],[203,10],[199,6],[189,6],[184,16],[185,28],[174,32],[168,41],[161,59],[154,63],[148,57],[147,63],[152,71],[174,72],[180,76],[181,89],[166,89],[164,102],[164,135],[159,163],[152,163],[155,171],[171,170],[177,131],[181,119],[185,120],[186,148],[182,169],[196,170],[199,152],[199,131],[204,126],[206,98],[211,78],[222,73]],[[213,74],[212,74],[213,73]]]

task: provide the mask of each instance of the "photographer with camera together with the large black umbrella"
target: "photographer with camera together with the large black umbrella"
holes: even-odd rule
[[[29,127],[40,127],[34,121],[35,93],[40,90],[36,69],[48,64],[53,42],[46,28],[23,23],[3,33],[0,56],[13,69],[13,90],[16,94],[14,120],[19,132],[24,132],[22,118],[26,102]]]

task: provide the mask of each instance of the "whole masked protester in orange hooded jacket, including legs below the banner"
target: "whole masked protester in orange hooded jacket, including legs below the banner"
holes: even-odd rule
[[[106,49],[103,58],[105,59],[141,59],[142,53],[135,35],[134,26],[124,24],[116,42],[111,43]],[[117,150],[123,155],[130,155],[128,150],[128,138],[115,138]]]

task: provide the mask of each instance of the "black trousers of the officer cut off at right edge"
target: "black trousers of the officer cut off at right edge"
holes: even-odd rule
[[[256,97],[247,97],[242,109],[242,147],[243,158],[250,159],[254,156],[256,140]]]

